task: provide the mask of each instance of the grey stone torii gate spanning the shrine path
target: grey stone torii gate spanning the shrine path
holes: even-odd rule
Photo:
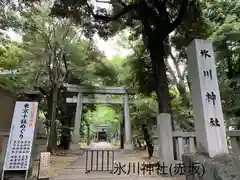
[[[67,103],[76,103],[76,115],[74,121],[74,129],[72,134],[72,143],[70,145],[70,149],[76,150],[79,149],[80,135],[79,129],[82,119],[82,109],[83,104],[123,104],[124,105],[124,124],[125,124],[125,142],[124,149],[132,150],[133,142],[132,142],[132,130],[131,123],[129,118],[129,101],[128,95],[133,94],[124,89],[123,87],[86,87],[86,86],[78,86],[73,84],[63,84],[64,87],[67,88],[68,92],[75,92],[78,95],[67,98]],[[89,98],[84,96],[85,94],[94,94],[100,95],[95,98]],[[106,95],[120,95],[119,99],[112,99],[111,97],[107,97]]]

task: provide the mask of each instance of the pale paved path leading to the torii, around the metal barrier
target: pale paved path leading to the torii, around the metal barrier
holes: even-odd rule
[[[99,143],[92,143],[89,148],[91,149],[115,149],[115,162],[121,162],[121,164],[126,164],[125,170],[127,170],[127,165],[129,162],[143,162],[143,160],[139,160],[139,157],[137,158],[135,154],[125,154],[123,150],[118,150],[116,147],[113,147],[111,144],[106,142],[99,142]],[[99,159],[102,159],[101,151],[99,151]],[[65,167],[65,169],[56,177],[53,177],[53,180],[185,180],[184,176],[178,176],[178,177],[162,177],[157,175],[155,172],[152,172],[151,175],[149,175],[146,172],[146,175],[125,175],[121,173],[120,175],[116,174],[110,174],[109,172],[89,172],[85,173],[85,165],[86,165],[86,157],[81,156],[78,158],[75,162],[73,162],[68,167]],[[106,156],[104,156],[104,163],[106,164]],[[95,160],[96,162],[96,155]],[[99,167],[101,167],[101,160],[98,161]],[[111,162],[110,162],[111,163]],[[96,163],[95,163],[96,166]],[[104,166],[106,168],[106,166]]]

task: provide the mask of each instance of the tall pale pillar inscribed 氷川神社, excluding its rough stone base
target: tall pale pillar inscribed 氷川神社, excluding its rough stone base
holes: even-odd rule
[[[210,157],[228,153],[211,41],[194,40],[189,45],[188,73],[198,149]]]

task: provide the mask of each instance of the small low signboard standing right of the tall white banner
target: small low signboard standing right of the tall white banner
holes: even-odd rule
[[[50,152],[42,152],[40,156],[38,179],[49,179]]]

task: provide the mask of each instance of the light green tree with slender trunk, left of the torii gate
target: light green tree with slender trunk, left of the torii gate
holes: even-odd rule
[[[50,125],[48,151],[51,152],[56,147],[56,117],[57,109],[62,105],[62,83],[94,83],[91,81],[96,75],[90,72],[102,64],[103,56],[93,43],[82,40],[81,31],[71,19],[49,16],[50,5],[51,2],[42,1],[21,10],[23,48],[28,56],[20,73],[28,72],[25,77],[28,88],[38,88],[45,96],[46,117]],[[62,98],[61,101],[65,102],[65,97]]]

